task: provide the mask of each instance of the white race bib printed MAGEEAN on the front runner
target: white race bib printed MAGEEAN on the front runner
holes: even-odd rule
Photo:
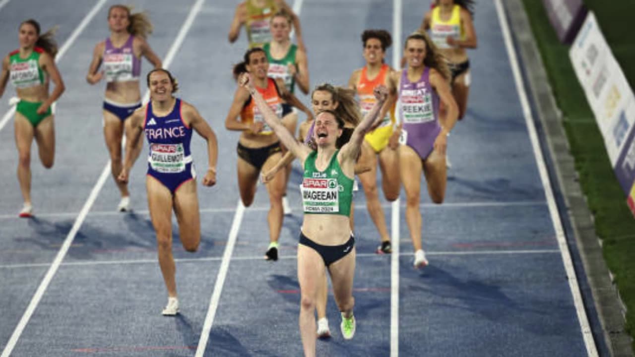
[[[337,179],[309,179],[305,177],[300,189],[304,212],[339,212]]]

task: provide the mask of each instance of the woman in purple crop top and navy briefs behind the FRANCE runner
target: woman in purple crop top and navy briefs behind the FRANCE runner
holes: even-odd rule
[[[113,5],[108,11],[108,25],[110,36],[95,46],[86,81],[97,84],[104,77],[106,80],[104,137],[110,153],[112,177],[121,194],[117,210],[127,211],[130,209],[128,185],[117,181],[123,157],[121,140],[124,121],[141,106],[141,58],[147,58],[154,68],[161,68],[161,58],[145,41],[145,37],[152,32],[152,24],[145,13],[131,13],[129,6]],[[139,156],[141,145],[142,142],[133,148],[133,161]]]

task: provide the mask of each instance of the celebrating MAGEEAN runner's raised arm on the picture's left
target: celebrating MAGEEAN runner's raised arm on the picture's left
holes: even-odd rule
[[[250,75],[247,73],[241,74],[238,79],[238,83],[246,88],[251,94],[251,100],[254,101],[262,116],[265,119],[267,125],[271,127],[271,129],[276,133],[277,137],[280,139],[282,144],[286,146],[296,158],[300,159],[302,163],[304,163],[304,159],[309,155],[311,149],[298,143],[297,140],[293,137],[293,134],[282,124],[280,118],[276,116],[276,113],[271,110],[265,99],[262,98],[262,95],[258,93],[258,91],[253,88],[253,84],[251,84]]]

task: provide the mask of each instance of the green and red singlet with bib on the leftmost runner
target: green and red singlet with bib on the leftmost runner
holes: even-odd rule
[[[9,53],[9,79],[15,88],[30,88],[44,84],[44,71],[39,57],[44,53],[36,47],[27,58],[20,58],[20,50]]]

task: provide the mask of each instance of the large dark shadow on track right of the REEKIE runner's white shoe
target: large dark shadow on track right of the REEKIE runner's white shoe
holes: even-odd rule
[[[415,279],[407,279],[409,282],[403,284],[403,289],[428,294],[429,297],[424,300],[429,300],[431,308],[461,309],[477,313],[497,325],[518,325],[528,332],[544,336],[566,330],[566,323],[570,320],[570,311],[554,309],[557,302],[551,295],[531,293],[523,294],[521,298],[507,295],[504,290],[518,292],[521,289],[520,283],[512,278],[483,280],[474,277],[473,273],[464,268],[452,267],[465,276],[457,278],[451,269],[443,269],[434,264],[421,271],[408,273],[413,271],[409,263],[402,262],[400,269],[407,269],[403,271],[403,276],[414,276]],[[522,288],[528,289],[527,282]],[[509,286],[505,286],[505,283],[509,283]],[[537,280],[536,283],[540,284],[542,281]]]

